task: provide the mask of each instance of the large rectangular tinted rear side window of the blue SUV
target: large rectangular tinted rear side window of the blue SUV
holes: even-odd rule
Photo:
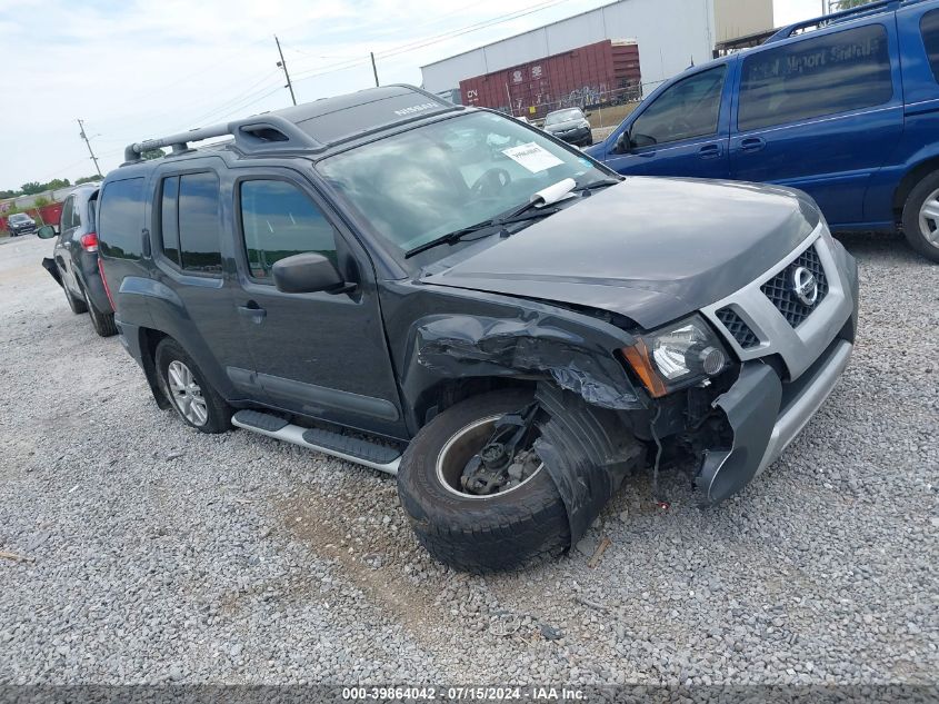
[[[870,108],[892,97],[887,30],[868,24],[745,59],[739,129]]]

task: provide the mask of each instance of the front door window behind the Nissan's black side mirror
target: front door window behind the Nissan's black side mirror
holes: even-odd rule
[[[270,279],[276,261],[307,251],[336,264],[336,230],[304,194],[284,181],[241,184],[241,228],[253,278]]]

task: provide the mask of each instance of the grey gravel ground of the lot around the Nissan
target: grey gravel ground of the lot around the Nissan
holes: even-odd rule
[[[0,244],[0,683],[936,683],[939,266],[859,257],[847,376],[717,509],[626,487],[571,556],[478,577],[391,478],[157,409],[117,338]],[[595,547],[611,542],[595,566]]]

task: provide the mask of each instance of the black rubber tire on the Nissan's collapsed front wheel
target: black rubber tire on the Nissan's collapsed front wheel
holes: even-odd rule
[[[443,564],[467,572],[511,569],[570,546],[567,510],[546,467],[513,488],[475,496],[459,489],[442,464],[451,454],[479,452],[491,434],[487,423],[531,400],[530,391],[517,389],[463,400],[427,424],[404,453],[398,495],[418,541]],[[460,443],[467,446],[454,449]]]

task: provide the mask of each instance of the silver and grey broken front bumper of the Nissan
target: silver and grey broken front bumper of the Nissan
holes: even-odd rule
[[[715,320],[719,319],[715,311],[737,307],[759,338],[743,350],[726,334],[742,364],[737,381],[713,401],[733,439],[729,449],[703,454],[696,485],[706,505],[740,490],[779,458],[829,397],[851,358],[858,320],[857,265],[823,225],[820,228],[809,246],[818,249],[829,290],[803,323],[790,326],[766,296],[760,299],[759,281],[706,310]],[[767,330],[777,335],[765,337]]]

